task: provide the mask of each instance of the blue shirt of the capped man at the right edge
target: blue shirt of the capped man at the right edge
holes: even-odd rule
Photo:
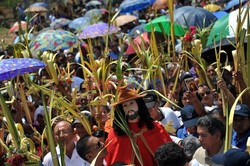
[[[250,137],[250,130],[248,130],[241,139],[239,139],[238,134],[234,132],[233,137],[232,137],[232,145],[245,151],[247,148],[246,144],[247,144],[248,137]]]

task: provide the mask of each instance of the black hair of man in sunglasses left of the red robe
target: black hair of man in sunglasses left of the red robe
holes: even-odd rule
[[[77,141],[76,143],[76,151],[78,155],[86,161],[88,161],[86,158],[86,154],[88,154],[89,152],[89,146],[87,142],[90,137],[90,135],[86,134],[82,138],[80,138],[79,141]]]

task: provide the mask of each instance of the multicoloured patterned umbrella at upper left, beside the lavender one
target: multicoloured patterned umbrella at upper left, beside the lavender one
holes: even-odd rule
[[[65,30],[48,30],[39,33],[31,42],[31,51],[56,51],[59,49],[70,49],[79,44],[76,35]]]

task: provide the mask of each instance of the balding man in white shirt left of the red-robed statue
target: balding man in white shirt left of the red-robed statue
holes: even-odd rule
[[[83,160],[76,151],[76,145],[74,142],[74,130],[72,124],[66,120],[61,120],[56,123],[55,127],[53,128],[53,133],[56,142],[61,142],[62,146],[66,146],[65,156],[64,156],[64,163],[66,166],[89,166],[90,164]],[[59,146],[56,147],[56,153],[58,161],[61,164],[60,158],[60,150]],[[51,152],[49,152],[43,159],[44,166],[53,166],[53,160]]]

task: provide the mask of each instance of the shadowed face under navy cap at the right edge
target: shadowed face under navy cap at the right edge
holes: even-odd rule
[[[247,130],[250,130],[250,120],[249,120],[249,117],[235,115],[234,116],[234,120],[233,120],[233,129],[239,135],[242,135]]]

